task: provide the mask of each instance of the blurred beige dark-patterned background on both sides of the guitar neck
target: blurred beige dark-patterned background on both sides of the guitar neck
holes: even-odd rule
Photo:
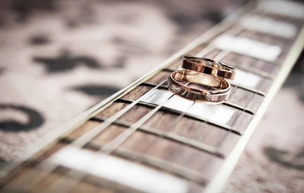
[[[0,0],[0,163],[157,67],[246,2]],[[277,184],[304,189],[303,63],[301,56],[227,192],[248,184],[257,191],[281,192],[284,185]]]

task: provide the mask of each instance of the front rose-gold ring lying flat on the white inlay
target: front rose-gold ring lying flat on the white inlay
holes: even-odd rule
[[[230,83],[226,80],[190,70],[172,72],[168,78],[168,88],[183,98],[212,103],[225,102],[231,92]]]

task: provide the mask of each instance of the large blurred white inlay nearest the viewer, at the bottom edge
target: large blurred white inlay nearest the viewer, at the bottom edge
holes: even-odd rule
[[[144,192],[187,192],[186,182],[122,159],[89,150],[65,147],[55,153],[52,163],[100,176]],[[90,164],[88,164],[90,163]]]

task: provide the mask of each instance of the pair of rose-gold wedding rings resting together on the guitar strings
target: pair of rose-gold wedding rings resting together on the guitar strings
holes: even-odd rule
[[[174,94],[196,102],[222,103],[231,92],[226,80],[234,80],[235,68],[207,58],[184,56],[184,70],[172,72],[168,88]]]

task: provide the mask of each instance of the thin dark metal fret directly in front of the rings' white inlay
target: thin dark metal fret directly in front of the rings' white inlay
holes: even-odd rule
[[[116,102],[132,103],[133,100],[117,99]],[[142,102],[142,101],[138,102],[137,104],[141,105],[141,106],[145,106],[145,107],[150,107],[150,108],[155,108],[156,106],[158,106],[156,104],[151,104],[151,103]],[[176,109],[172,109],[172,108],[167,108],[167,107],[164,107],[164,106],[162,106],[160,109],[166,110],[166,111],[169,111],[169,112],[172,112],[172,113],[176,113],[176,114],[182,113],[182,111],[179,111],[179,110],[176,110]],[[189,113],[185,113],[184,116],[187,117],[187,118],[191,118],[191,119],[207,122],[208,124],[215,125],[215,126],[219,127],[220,129],[224,129],[224,130],[227,130],[227,131],[231,130],[232,133],[235,133],[237,135],[241,135],[241,133],[239,131],[233,129],[231,126],[220,124],[220,123],[216,123],[214,121],[211,121],[211,120],[199,117],[197,115],[189,114]]]

